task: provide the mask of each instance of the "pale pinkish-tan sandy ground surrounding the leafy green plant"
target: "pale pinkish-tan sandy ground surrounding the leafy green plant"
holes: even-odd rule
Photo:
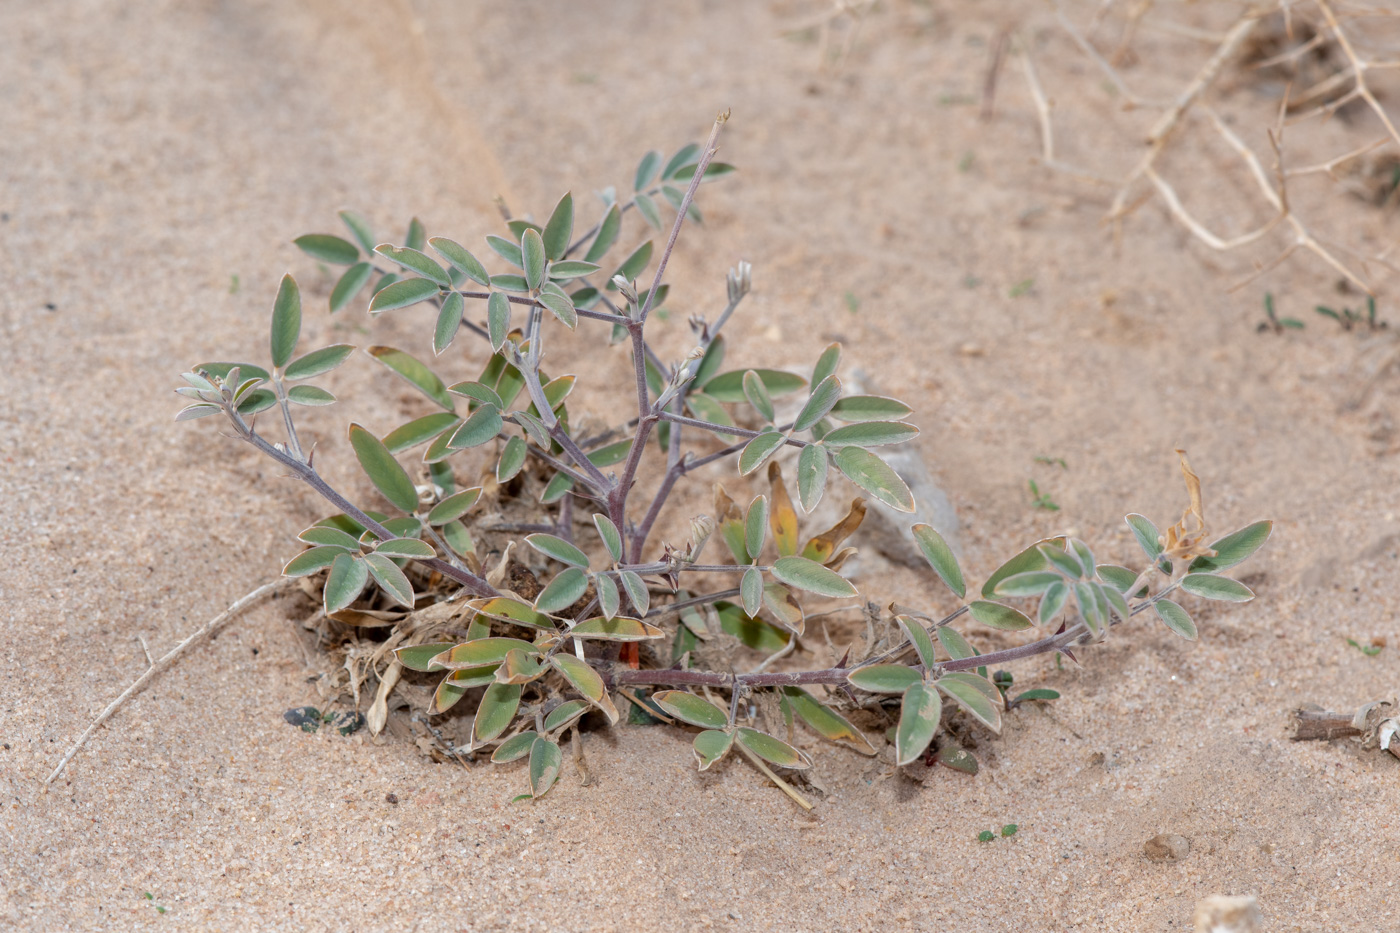
[[[1256,333],[1266,290],[1299,317],[1336,300],[1320,263],[1228,293],[1271,254],[1210,254],[1158,205],[1114,245],[1103,189],[1032,164],[1011,63],[997,116],[979,120],[988,43],[1028,7],[896,3],[832,74],[809,38],[780,38],[820,10],[795,3],[6,4],[0,926],[1183,930],[1198,898],[1226,892],[1257,897],[1268,930],[1396,929],[1400,763],[1287,738],[1298,703],[1396,688],[1390,403],[1338,409],[1355,335],[1312,321]],[[1035,17],[1065,156],[1124,170],[1145,118],[1110,106]],[[1162,34],[1141,43],[1168,62],[1163,87],[1204,57]],[[1219,106],[1257,112],[1263,92],[1236,87]],[[539,806],[508,803],[518,769],[304,734],[281,713],[318,702],[325,660],[308,665],[274,602],[158,678],[45,786],[141,671],[139,637],[164,653],[273,579],[325,511],[207,422],[172,423],[178,373],[262,359],[286,270],[308,296],[304,346],[424,352],[421,310],[332,322],[329,280],[288,241],[333,230],[343,206],[473,242],[496,231],[496,195],[539,214],[573,189],[592,212],[585,192],[627,184],[643,151],[701,136],[721,108],[742,172],[704,191],[707,226],[678,252],[666,352],[749,259],[757,291],[731,359],[805,366],[841,339],[847,367],[913,402],[974,580],[1065,530],[1137,563],[1121,516],[1176,517],[1180,445],[1217,530],[1277,520],[1243,569],[1260,598],[1201,607],[1196,643],[1134,623],[1081,670],[1018,668],[1064,699],[1011,714],[976,778],[917,785],[812,742],[830,794],[811,814],[743,762],[697,775],[689,737],[665,727],[591,735],[598,783],[566,768]],[[1242,126],[1261,144],[1259,123]],[[1329,132],[1294,144],[1336,154],[1373,125]],[[1240,207],[1228,154],[1193,158],[1168,168],[1214,223],[1264,219]],[[1394,237],[1393,214],[1298,196],[1369,248]],[[1376,282],[1392,310],[1393,284]],[[414,409],[389,377],[364,380],[370,363],[346,370],[332,388],[350,405],[308,430],[328,475],[363,492],[343,419],[382,430]],[[1061,511],[1030,507],[1030,478]],[[927,572],[876,558],[861,586],[946,604]],[[1376,657],[1345,643],[1376,636]],[[976,841],[1008,822],[1014,839]],[[1190,856],[1144,859],[1159,832],[1187,836]]]

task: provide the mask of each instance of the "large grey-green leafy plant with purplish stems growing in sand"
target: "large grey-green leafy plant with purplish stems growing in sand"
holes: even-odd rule
[[[298,539],[308,546],[284,574],[312,583],[328,619],[378,626],[374,630],[386,636],[377,651],[371,730],[384,727],[386,698],[406,670],[440,672],[430,714],[448,713],[466,698],[476,705],[470,740],[454,752],[491,748],[493,762],[528,759],[528,796],[539,797],[560,773],[561,738],[573,738],[578,758],[581,719],[598,710],[616,723],[613,696],[623,695],[640,710],[697,727],[701,770],[738,749],[801,800],[770,769],[811,766],[794,742],[797,720],[864,754],[876,747],[853,720],[875,734],[890,724],[899,765],[927,755],[967,770],[970,756],[960,749],[939,758],[927,749],[956,710],[1000,731],[1011,678],[998,672],[994,684],[988,665],[1051,651],[1074,658],[1078,646],[1102,642],[1148,609],[1175,633],[1196,637],[1186,609],[1168,598],[1177,591],[1252,598],[1221,572],[1250,556],[1268,537],[1270,523],[1207,544],[1200,483],[1183,455],[1190,506],[1182,520],[1159,534],[1147,518],[1128,516],[1148,558],[1145,570],[1098,563],[1082,541],[1057,537],[1032,544],[969,595],[944,537],[918,524],[917,546],[960,608],[930,615],[867,602],[875,635],[860,657],[847,651],[827,668],[799,664],[804,601],[858,595],[843,576],[854,548],[843,545],[861,524],[865,500],[855,497],[834,527],[806,537],[798,530],[798,507],[811,513],[840,474],[864,495],[911,511],[909,488],[872,451],[918,431],[903,420],[911,412],[904,402],[844,392],[839,345],[802,375],[760,366],[763,360],[734,366],[745,347],[731,349],[721,331],[750,290],[746,263],[729,272],[728,300],[717,318],[692,318],[696,343],[685,359],[668,364],[652,350],[647,328],[666,298],[665,270],[682,226],[687,216],[699,219],[696,192],[703,181],[732,171],[713,161],[722,123],[717,120],[703,147],[687,146],[669,160],[648,153],[633,193],[623,200],[605,192],[602,219],[581,235],[574,235],[570,195],[543,226],[508,221],[510,237],[486,238],[507,272],[489,273],[465,247],[428,238],[417,221],[402,247],[377,242],[368,224],[350,213],[342,217],[351,240],[297,240],[321,262],[346,268],[330,293],[332,312],[365,289],[371,315],[430,303],[437,307],[433,352],[461,346],[456,338],[465,332],[469,353],[482,361],[477,378],[448,385],[403,350],[367,349],[430,403],[427,413],[382,437],[349,426],[358,464],[392,517],[333,489],[298,436],[295,406],[335,402],[307,380],[349,360],[354,347],[297,356],[302,308],[291,276],[273,303],[270,367],[204,363],[185,374],[188,385],[176,391],[192,403],[178,419],[221,415],[238,438],[337,510],[301,531]],[[620,262],[606,256],[630,210],[662,227],[658,193],[676,216],[643,289],[637,280],[652,256],[650,241]],[[610,273],[602,275],[605,269]],[[484,321],[469,317],[468,307],[482,307]],[[616,391],[636,410],[626,424],[591,437],[570,419],[578,380],[543,370],[546,342],[589,328],[603,338],[599,352],[606,343],[629,345],[631,378]],[[259,430],[258,415],[272,409],[286,431],[281,441]],[[406,468],[399,455],[414,448],[424,452]],[[780,465],[790,454],[797,504]],[[459,468],[466,462],[470,471]],[[489,472],[482,462],[493,465]],[[686,541],[654,545],[651,532],[676,486],[718,462],[734,465],[741,478],[762,471],[766,492],[741,504],[717,486],[714,516],[692,518]],[[459,488],[463,474],[489,475],[487,488]],[[643,489],[650,499],[638,500]],[[526,520],[469,523],[486,499]],[[591,510],[587,521],[575,523],[577,506]],[[482,535],[503,535],[503,556],[491,567],[476,542]],[[713,538],[727,553],[706,562]],[[538,553],[539,566],[547,560],[556,567],[547,579],[515,560],[525,548]],[[965,615],[1002,632],[1042,626],[1047,633],[979,654],[951,625]],[[707,665],[704,642],[722,632],[767,657],[745,672]],[[671,643],[669,657],[640,650],[658,642]],[[644,688],[665,689],[645,695]],[[1030,691],[1014,703],[1054,696]]]

